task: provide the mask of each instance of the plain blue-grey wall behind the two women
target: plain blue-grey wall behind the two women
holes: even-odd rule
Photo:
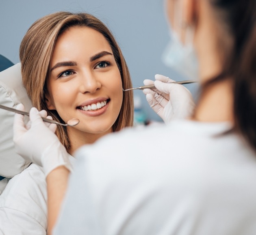
[[[56,11],[85,11],[106,23],[124,53],[134,86],[154,79],[156,73],[176,81],[186,79],[161,60],[169,41],[163,0],[0,0],[0,54],[15,64],[19,62],[20,42],[30,25]],[[195,94],[196,84],[186,87]],[[148,117],[160,121],[142,91],[134,94],[141,97]]]

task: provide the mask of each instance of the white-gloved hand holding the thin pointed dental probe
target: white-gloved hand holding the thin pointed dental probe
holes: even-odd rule
[[[195,108],[193,97],[183,85],[156,74],[156,81],[144,80],[144,85],[155,85],[154,89],[144,89],[150,107],[168,124],[174,119],[188,118]]]

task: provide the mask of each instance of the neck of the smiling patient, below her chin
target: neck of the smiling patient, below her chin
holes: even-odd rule
[[[87,133],[87,132],[83,132],[80,130],[77,130],[75,128],[68,128],[67,129],[67,134],[70,140],[70,145],[71,147],[68,150],[68,153],[72,156],[74,156],[74,153],[76,152],[76,150],[79,147],[82,147],[82,145],[86,145],[86,144],[92,144],[95,141],[97,141],[98,139],[100,139],[100,137],[113,132],[112,128],[110,128],[109,130],[107,130],[106,132],[103,133],[99,133],[99,134],[92,134],[92,133]]]

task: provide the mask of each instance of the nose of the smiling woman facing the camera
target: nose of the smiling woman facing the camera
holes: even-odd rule
[[[94,93],[101,88],[99,79],[93,74],[86,74],[81,76],[80,92],[82,93]]]

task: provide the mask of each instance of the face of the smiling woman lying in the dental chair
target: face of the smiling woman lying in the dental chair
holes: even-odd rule
[[[48,109],[67,122],[78,118],[76,131],[111,132],[119,115],[121,75],[104,36],[88,27],[72,27],[56,41],[47,81]]]

